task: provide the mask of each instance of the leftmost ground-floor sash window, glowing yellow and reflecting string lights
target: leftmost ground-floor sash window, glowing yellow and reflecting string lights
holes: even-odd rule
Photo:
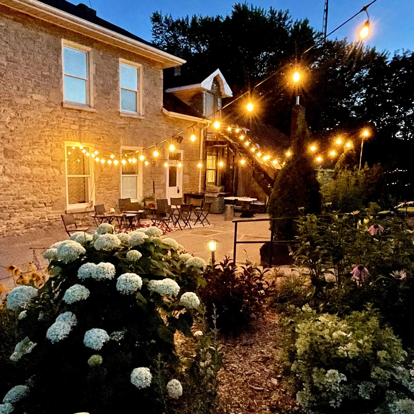
[[[82,208],[92,200],[89,147],[65,145],[67,207]],[[85,150],[85,153],[82,152]]]

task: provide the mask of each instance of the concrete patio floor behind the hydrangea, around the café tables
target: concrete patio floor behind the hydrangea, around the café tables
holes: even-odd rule
[[[238,214],[236,215],[238,216]],[[255,218],[267,218],[267,214],[256,214]],[[211,226],[173,231],[163,237],[176,239],[189,253],[200,256],[206,261],[211,258],[207,243],[210,240],[216,240],[216,262],[224,259],[225,256],[233,258],[234,223],[224,221],[224,214],[210,214],[208,219]],[[41,266],[46,267],[48,261],[43,259],[43,249],[48,248],[56,241],[67,238],[63,228],[0,238],[0,284],[5,287],[6,291],[10,291],[14,287],[14,281],[5,267],[13,264],[23,270],[25,263],[34,261],[33,249]],[[239,223],[238,240],[270,240],[269,222]],[[242,264],[246,259],[253,263],[260,263],[260,246],[262,246],[261,243],[239,244],[236,253],[237,263]]]

